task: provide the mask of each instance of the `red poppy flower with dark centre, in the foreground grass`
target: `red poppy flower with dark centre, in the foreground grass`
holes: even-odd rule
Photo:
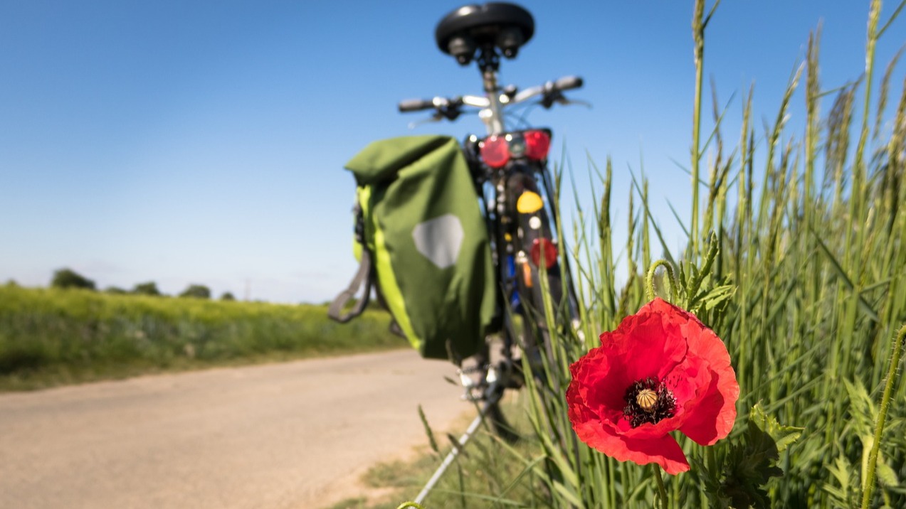
[[[689,470],[670,432],[703,446],[727,437],[739,385],[727,347],[695,315],[661,299],[627,316],[570,366],[566,390],[576,435],[620,461]]]

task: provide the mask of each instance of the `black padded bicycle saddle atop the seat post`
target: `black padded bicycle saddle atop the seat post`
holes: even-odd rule
[[[515,4],[489,2],[463,5],[447,14],[434,32],[440,51],[467,65],[478,49],[495,46],[506,58],[516,57],[519,48],[535,34],[532,14]]]

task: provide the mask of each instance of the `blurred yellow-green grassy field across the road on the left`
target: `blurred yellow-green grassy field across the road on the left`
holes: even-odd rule
[[[386,313],[0,286],[0,390],[405,348]]]

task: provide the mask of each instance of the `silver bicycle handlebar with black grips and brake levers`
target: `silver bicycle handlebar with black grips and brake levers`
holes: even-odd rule
[[[543,85],[530,87],[524,91],[516,93],[516,89],[509,89],[502,93],[500,102],[502,105],[510,106],[520,102],[528,101],[536,96],[542,96],[541,105],[550,108],[554,102],[566,102],[563,91],[577,89],[582,87],[583,81],[579,76],[564,76],[554,82],[546,82]],[[435,97],[433,99],[407,99],[400,101],[400,113],[422,110],[438,110],[441,116],[449,120],[455,120],[458,117],[461,106],[474,106],[476,108],[487,108],[490,101],[487,97],[477,95],[466,95],[455,98]]]

